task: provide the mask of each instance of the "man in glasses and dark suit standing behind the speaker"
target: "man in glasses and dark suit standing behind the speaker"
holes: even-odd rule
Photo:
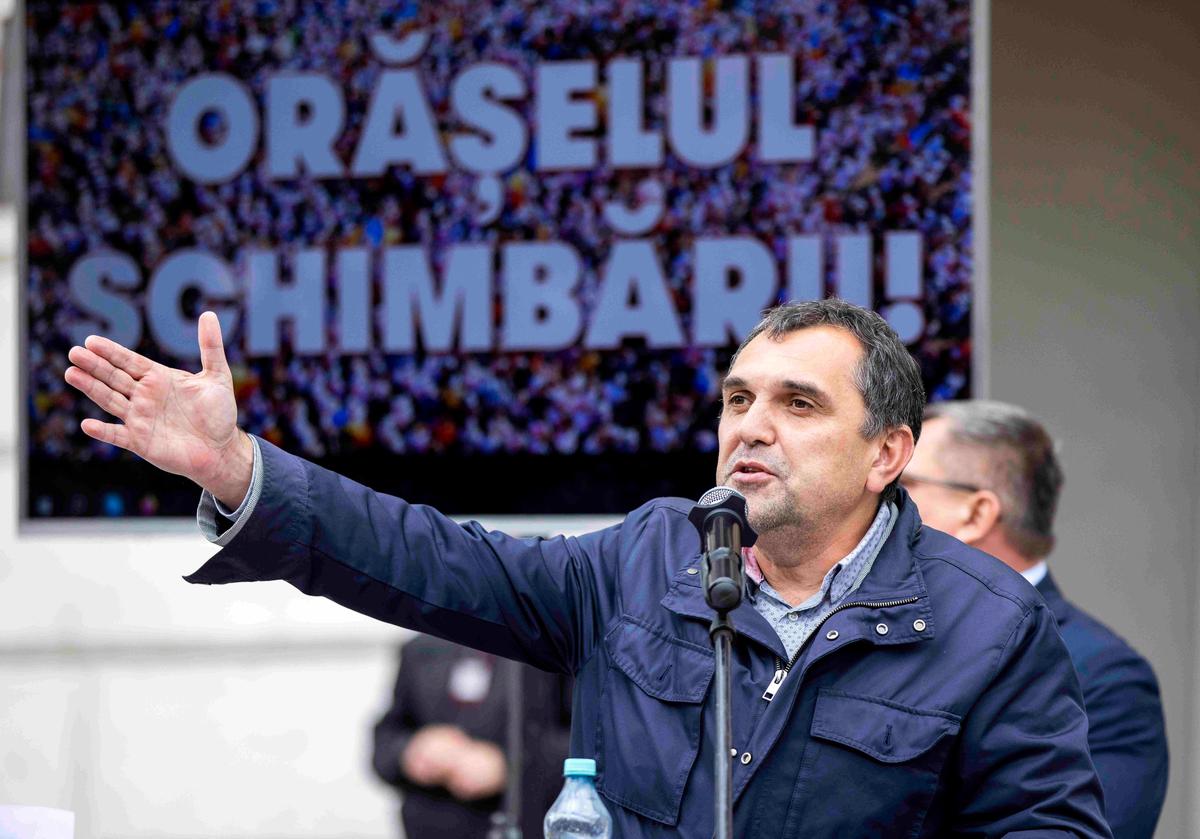
[[[1166,729],[1150,663],[1063,598],[1046,569],[1062,489],[1054,441],[1016,406],[930,406],[901,483],[926,525],[1002,559],[1037,587],[1079,675],[1088,747],[1116,839],[1146,839],[1166,797]]]

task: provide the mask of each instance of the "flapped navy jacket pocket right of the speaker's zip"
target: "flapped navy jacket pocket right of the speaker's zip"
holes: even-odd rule
[[[961,721],[821,689],[784,835],[800,826],[814,837],[919,835]]]

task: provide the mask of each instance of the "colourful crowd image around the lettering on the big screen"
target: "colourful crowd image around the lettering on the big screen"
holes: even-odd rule
[[[61,370],[67,348],[91,332],[132,337],[146,355],[194,368],[194,358],[175,352],[194,342],[194,331],[184,338],[175,332],[179,324],[194,324],[205,306],[236,316],[227,347],[241,426],[380,489],[406,489],[388,483],[395,469],[383,463],[396,461],[380,455],[452,456],[485,480],[493,474],[488,465],[504,455],[599,461],[652,453],[707,463],[716,444],[719,376],[740,337],[722,330],[724,340],[697,340],[694,323],[697,242],[720,236],[754,240],[775,263],[778,283],[754,306],[756,319],[762,307],[794,290],[787,260],[797,236],[823,247],[820,276],[810,283],[821,295],[845,292],[838,270],[848,270],[848,262],[839,262],[838,247],[848,253],[851,240],[865,247],[860,294],[883,311],[889,295],[884,233],[918,233],[919,276],[910,300],[918,310],[917,326],[906,340],[932,400],[971,394],[966,1],[233,0],[212,6],[32,0],[26,11],[30,516],[190,511],[194,502],[186,486],[113,484],[112,475],[125,474],[131,459],[77,433],[92,408],[64,384]],[[389,65],[380,34],[391,47],[408,36],[424,38],[420,55]],[[629,55],[641,59],[643,130],[665,137],[650,167],[606,161],[611,144],[604,137],[616,130],[606,107],[614,94],[606,67]],[[745,72],[757,85],[750,86],[750,98],[764,95],[760,77],[774,66],[763,56],[790,56],[788,119],[811,126],[808,161],[767,160],[764,130],[752,125],[728,161],[696,164],[679,154],[667,131],[672,60],[698,62],[697,96],[725,95],[732,82],[722,79],[722,67],[734,65],[716,62],[716,55],[748,56]],[[582,102],[594,113],[594,131],[580,137],[594,139],[595,164],[551,168],[548,146],[538,142],[545,128],[538,124],[538,83],[553,76],[556,62],[580,61],[594,62],[598,74],[595,85],[572,100],[572,107]],[[504,101],[528,134],[510,166],[480,175],[443,150],[442,167],[418,156],[383,161],[377,173],[361,174],[371,168],[360,146],[374,131],[370,112],[386,73],[418,73],[436,139],[444,145],[464,131],[452,101],[456,79],[478,66],[510,68],[528,94]],[[336,176],[302,166],[280,175],[269,160],[269,91],[272,79],[288,73],[319,76],[342,102],[344,118],[331,146]],[[205,182],[187,170],[168,124],[180,91],[211,77],[244,86],[262,137],[245,166]],[[714,108],[704,112],[708,118]],[[216,148],[236,130],[229,113],[205,112],[197,143]],[[498,193],[486,196],[479,188],[484,180]],[[481,199],[491,202],[492,212],[481,212]],[[668,325],[680,340],[629,335],[596,346],[584,334],[602,305],[599,286],[607,260],[618,240],[630,240],[606,215],[612,202],[660,208],[634,239],[653,247],[678,329]],[[379,277],[386,248],[422,248],[432,277],[425,290],[436,293],[454,247],[486,245],[499,265],[502,247],[522,242],[562,242],[576,254],[577,335],[547,349],[510,349],[499,340],[464,347],[467,316],[443,300],[443,317],[460,329],[458,340],[431,346],[437,342],[420,318],[431,317],[436,306],[409,300],[400,311],[410,312],[415,324],[380,325],[382,316],[365,313],[367,337],[353,350],[343,348],[353,343],[344,335],[343,311],[352,266],[368,277],[367,312],[386,293]],[[283,318],[277,331],[274,322],[269,325],[270,352],[256,350],[253,336],[246,337],[256,316],[247,311],[245,288],[247,271],[262,263],[247,254],[277,254],[271,264],[283,289],[289,271],[300,271],[296,253],[305,248],[328,253],[316,301],[320,311],[311,313],[320,318],[320,346],[308,346],[312,338],[301,335],[300,324]],[[156,271],[181,253],[209,260],[197,264],[228,266],[227,280],[241,296],[215,305],[205,293],[211,286],[196,277],[163,301],[166,280]],[[346,253],[368,256],[353,262]],[[504,322],[505,300],[498,289],[488,294],[484,317],[492,326]],[[637,305],[620,301],[626,302]],[[412,336],[403,346],[378,337],[380,330],[392,335],[400,328]],[[64,468],[41,468],[59,465]],[[80,473],[109,475],[107,489],[80,490]],[[440,498],[431,486],[436,481],[428,478],[424,487],[434,501]],[[602,486],[593,497],[610,511],[638,501],[606,495]]]

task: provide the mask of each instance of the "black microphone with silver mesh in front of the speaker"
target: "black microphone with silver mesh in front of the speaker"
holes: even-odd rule
[[[688,519],[700,531],[704,599],[715,611],[728,612],[742,603],[745,588],[742,549],[758,538],[746,521],[745,496],[727,486],[714,486],[700,497]]]

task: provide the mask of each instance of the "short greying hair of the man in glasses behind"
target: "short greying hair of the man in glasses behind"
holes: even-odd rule
[[[1024,556],[1054,550],[1054,516],[1062,491],[1062,467],[1050,433],[1024,408],[972,400],[929,406],[925,419],[949,423],[950,444],[982,455],[979,473],[964,475],[962,457],[942,457],[955,479],[982,484],[1000,496],[1001,527]],[[970,461],[967,461],[970,462]]]

